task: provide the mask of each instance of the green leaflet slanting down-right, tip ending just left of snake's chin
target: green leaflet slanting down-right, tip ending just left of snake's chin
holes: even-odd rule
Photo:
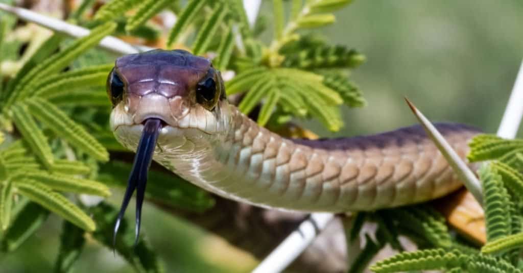
[[[28,99],[27,104],[29,105],[31,115],[46,124],[56,135],[69,141],[71,145],[78,149],[92,155],[97,160],[109,160],[109,153],[105,147],[58,107],[40,98]]]

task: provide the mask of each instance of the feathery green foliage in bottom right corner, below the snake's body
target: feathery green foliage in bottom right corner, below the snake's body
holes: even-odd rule
[[[521,174],[519,151],[521,140],[504,140],[495,135],[479,135],[471,143],[468,155],[471,161],[492,160],[484,163],[479,174],[483,183],[483,200],[487,230],[487,243],[481,248],[481,254],[470,251],[445,236],[444,230],[434,232],[425,225],[419,232],[419,225],[412,215],[394,212],[394,218],[400,216],[400,222],[407,222],[407,228],[418,230],[416,236],[425,238],[433,247],[413,253],[401,253],[372,266],[376,272],[398,272],[406,270],[445,270],[449,272],[521,272],[520,251],[523,247],[521,233],[520,202],[523,198],[523,175]],[[421,210],[427,212],[426,210]],[[418,228],[416,228],[418,226]],[[439,229],[439,228],[436,228]],[[400,230],[402,228],[400,227]],[[425,234],[424,234],[425,233]],[[444,236],[450,245],[439,244],[438,236]],[[408,236],[408,234],[406,234]],[[451,247],[453,252],[449,252]],[[458,257],[458,259],[456,259]]]

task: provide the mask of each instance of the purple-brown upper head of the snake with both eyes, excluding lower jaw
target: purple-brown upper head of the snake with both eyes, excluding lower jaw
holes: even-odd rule
[[[113,107],[122,104],[135,124],[160,118],[176,124],[195,105],[212,111],[225,98],[211,62],[185,50],[152,50],[122,56],[107,78]]]

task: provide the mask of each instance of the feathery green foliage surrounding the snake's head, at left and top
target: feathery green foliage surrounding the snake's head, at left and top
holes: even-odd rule
[[[259,109],[259,124],[275,127],[280,126],[279,120],[291,117],[315,118],[336,131],[342,127],[341,105],[365,104],[360,90],[348,79],[349,70],[365,58],[325,41],[311,47],[307,32],[331,24],[333,13],[350,2],[292,1],[286,21],[282,1],[274,1],[277,32],[266,45],[258,38],[265,31],[263,20],[249,26],[240,0],[111,0],[101,7],[83,1],[69,19],[90,28],[89,36],[70,41],[52,35],[35,43],[23,56],[17,74],[0,81],[0,142],[4,133],[7,142],[0,146],[2,249],[14,251],[38,230],[49,211],[66,220],[56,272],[73,267],[84,236],[112,245],[117,211],[105,202],[86,208],[82,198],[77,198],[78,194],[109,196],[108,186],[123,187],[131,168],[129,162],[105,162],[109,152],[126,149],[108,129],[105,85],[113,59],[92,50],[103,37],[116,31],[148,41],[159,39],[164,32],[151,19],[162,10],[174,12],[176,24],[165,31],[168,47],[204,55],[224,75],[234,71],[226,83],[228,93],[242,94],[238,107],[245,113]],[[89,9],[96,11],[94,20],[87,20]],[[13,27],[14,21],[1,30]],[[17,51],[9,52],[18,58]],[[154,183],[147,186],[146,198],[170,208],[203,212],[214,204],[205,191],[173,175],[152,170],[149,180]],[[122,223],[125,235],[118,238],[117,252],[139,272],[163,272],[143,238],[133,248],[133,230],[127,225]],[[380,232],[394,236],[390,229]],[[361,263],[367,264],[381,244],[369,244]]]

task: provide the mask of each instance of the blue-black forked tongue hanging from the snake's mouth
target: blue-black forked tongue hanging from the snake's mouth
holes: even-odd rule
[[[120,213],[118,214],[118,219],[115,223],[115,230],[112,237],[113,248],[116,245],[116,234],[118,233],[118,228],[120,228],[120,221],[123,218],[123,214],[126,212],[127,205],[131,200],[134,189],[137,190],[134,246],[136,246],[138,243],[138,236],[140,235],[142,204],[145,195],[145,184],[147,183],[147,171],[151,166],[156,140],[158,139],[158,134],[160,134],[161,127],[162,122],[160,119],[151,118],[145,121],[142,138],[140,138],[140,143],[138,144],[138,149],[136,151],[136,155],[134,156],[131,175],[129,175],[129,181],[127,182],[126,193],[123,196]]]

